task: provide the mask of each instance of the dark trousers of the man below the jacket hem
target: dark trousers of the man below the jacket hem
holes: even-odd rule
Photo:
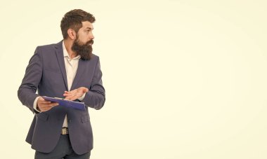
[[[84,153],[82,155],[78,155],[72,150],[72,146],[70,144],[70,138],[68,134],[61,134],[60,139],[58,140],[58,144],[53,149],[51,153],[41,153],[39,151],[35,151],[35,159],[89,159],[91,152]]]

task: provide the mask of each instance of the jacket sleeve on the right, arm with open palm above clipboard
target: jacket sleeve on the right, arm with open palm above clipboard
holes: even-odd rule
[[[101,109],[105,104],[105,88],[102,83],[102,71],[100,70],[99,58],[93,73],[91,88],[89,88],[89,92],[86,92],[81,102],[84,102],[87,106],[96,110]]]

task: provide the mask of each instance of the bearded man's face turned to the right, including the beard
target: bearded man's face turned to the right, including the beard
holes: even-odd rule
[[[82,60],[90,60],[93,45],[93,25],[91,22],[82,22],[82,28],[76,34],[76,39],[72,44],[72,50],[81,56]]]

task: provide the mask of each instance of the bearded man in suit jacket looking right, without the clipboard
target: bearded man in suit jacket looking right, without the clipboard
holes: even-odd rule
[[[101,109],[105,103],[99,57],[92,53],[93,22],[93,15],[85,11],[66,13],[60,24],[63,41],[38,46],[27,66],[18,98],[35,114],[26,141],[37,159],[90,158],[93,134],[88,107]],[[42,96],[84,102],[86,111]]]

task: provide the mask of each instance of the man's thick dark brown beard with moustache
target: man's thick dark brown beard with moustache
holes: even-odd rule
[[[72,44],[72,50],[77,53],[77,55],[80,55],[82,60],[90,60],[93,52],[92,45],[93,40],[83,44],[81,41],[79,41],[79,37],[77,36],[77,39],[75,39],[74,43]]]

